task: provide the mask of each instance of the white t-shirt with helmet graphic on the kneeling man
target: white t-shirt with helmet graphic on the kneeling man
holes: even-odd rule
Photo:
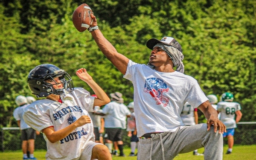
[[[208,100],[194,78],[177,71],[158,72],[130,60],[124,78],[134,85],[138,137],[150,132],[176,131],[184,126],[180,113],[185,102],[197,108]]]

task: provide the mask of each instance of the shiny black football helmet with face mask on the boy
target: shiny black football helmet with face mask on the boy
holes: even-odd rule
[[[52,84],[47,83],[46,80],[59,77],[64,88],[54,89]],[[50,94],[61,95],[66,92],[72,92],[74,90],[73,81],[70,75],[64,70],[59,69],[52,64],[41,64],[29,72],[28,76],[29,89],[37,97],[46,97]],[[55,81],[56,82],[56,81]],[[56,84],[58,84],[56,82]]]

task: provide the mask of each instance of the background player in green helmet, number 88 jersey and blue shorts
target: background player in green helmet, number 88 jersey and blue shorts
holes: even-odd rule
[[[221,116],[221,122],[227,127],[227,132],[224,132],[223,137],[227,137],[228,150],[226,154],[232,153],[234,145],[234,134],[236,123],[242,117],[241,106],[237,102],[233,102],[234,96],[232,93],[225,92],[221,95],[221,102],[218,102],[218,113]],[[236,115],[236,118],[235,118]]]

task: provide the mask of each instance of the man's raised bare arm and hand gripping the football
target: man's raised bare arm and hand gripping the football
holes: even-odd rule
[[[93,19],[91,27],[97,26],[96,17],[93,14],[91,17]],[[129,59],[118,53],[115,47],[113,47],[113,45],[104,37],[99,29],[94,30],[91,34],[102,53],[122,74],[125,75]]]

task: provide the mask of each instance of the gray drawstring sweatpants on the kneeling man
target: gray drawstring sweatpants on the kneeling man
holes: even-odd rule
[[[137,160],[172,160],[177,154],[204,147],[204,160],[222,160],[223,137],[207,124],[185,126],[150,139],[140,139]]]

